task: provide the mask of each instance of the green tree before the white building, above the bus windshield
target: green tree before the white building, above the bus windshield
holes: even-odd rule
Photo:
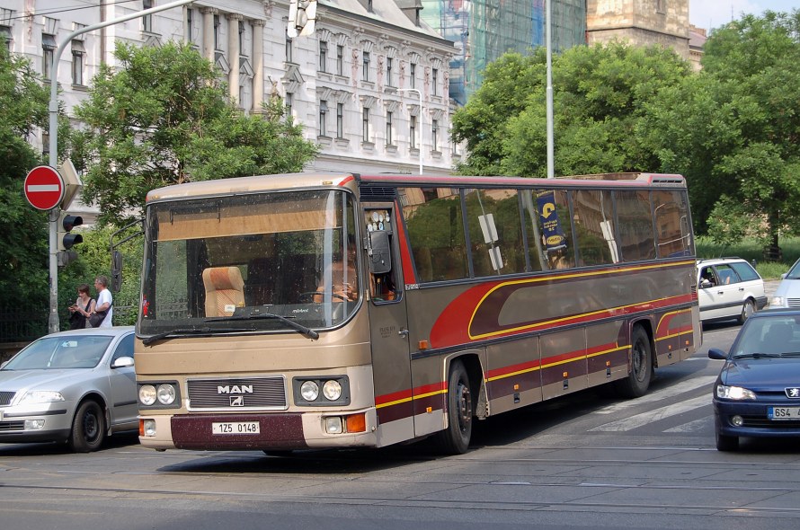
[[[73,137],[74,158],[101,223],[137,216],[147,191],[161,186],[300,171],[316,155],[302,128],[281,119],[280,101],[244,115],[189,45],[120,43],[114,56],[119,68],[101,66],[75,110],[85,127]]]

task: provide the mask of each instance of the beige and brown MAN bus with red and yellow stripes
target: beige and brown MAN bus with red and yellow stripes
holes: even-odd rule
[[[680,175],[297,173],[153,190],[139,440],[467,451],[476,420],[646,393],[701,344]]]

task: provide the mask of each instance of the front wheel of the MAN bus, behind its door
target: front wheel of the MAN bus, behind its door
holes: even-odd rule
[[[449,455],[463,455],[472,437],[472,393],[464,364],[457,360],[450,365],[448,378],[448,428],[437,435],[437,445]]]

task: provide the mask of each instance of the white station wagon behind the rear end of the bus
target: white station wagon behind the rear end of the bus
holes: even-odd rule
[[[744,323],[767,305],[764,280],[742,258],[698,261],[698,301],[703,322]]]

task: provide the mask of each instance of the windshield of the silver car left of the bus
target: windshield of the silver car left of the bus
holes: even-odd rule
[[[22,349],[3,370],[93,368],[100,363],[111,339],[103,335],[45,337]]]

